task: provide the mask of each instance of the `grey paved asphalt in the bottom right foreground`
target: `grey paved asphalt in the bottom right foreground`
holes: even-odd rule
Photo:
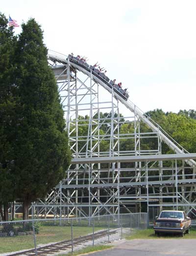
[[[196,239],[134,239],[91,256],[195,256]]]

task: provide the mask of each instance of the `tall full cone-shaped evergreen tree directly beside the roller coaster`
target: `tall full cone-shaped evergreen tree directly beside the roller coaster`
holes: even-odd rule
[[[29,204],[46,196],[64,177],[71,151],[56,81],[48,65],[43,31],[34,19],[22,25],[16,46],[16,193]]]

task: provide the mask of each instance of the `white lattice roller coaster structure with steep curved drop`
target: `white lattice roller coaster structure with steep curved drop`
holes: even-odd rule
[[[55,52],[48,58],[65,111],[73,161],[67,178],[46,199],[32,204],[32,216],[82,217],[166,207],[182,207],[194,214],[196,162],[190,159],[194,154],[175,142],[93,66]],[[108,94],[107,101],[103,91]],[[122,104],[127,109],[123,118]],[[141,122],[151,131],[141,132]],[[134,127],[134,132],[122,133],[124,124]],[[130,142],[128,149],[123,148],[125,140]],[[156,142],[152,143],[156,148],[145,148],[144,140]],[[162,155],[163,143],[175,154]]]

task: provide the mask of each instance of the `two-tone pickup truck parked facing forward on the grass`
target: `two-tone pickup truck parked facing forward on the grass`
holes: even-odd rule
[[[160,233],[189,233],[191,219],[183,211],[162,211],[154,221],[154,232]]]

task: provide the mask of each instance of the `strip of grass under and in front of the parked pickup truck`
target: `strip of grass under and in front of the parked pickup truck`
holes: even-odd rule
[[[154,234],[153,228],[147,228],[143,230],[135,230],[133,234],[127,236],[126,239],[172,239],[172,238],[180,238],[180,239],[196,239],[196,228],[191,228],[189,234],[185,234],[184,237],[180,237],[179,234],[162,234],[157,236]]]

